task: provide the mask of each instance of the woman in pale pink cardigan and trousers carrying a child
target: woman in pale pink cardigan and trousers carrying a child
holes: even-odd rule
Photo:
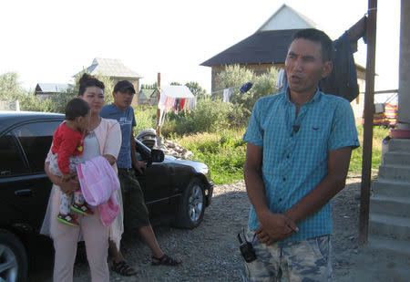
[[[102,119],[99,112],[104,106],[104,84],[97,78],[84,74],[80,78],[78,98],[87,101],[90,106],[90,126],[85,138],[83,162],[99,155],[107,159],[117,172],[116,161],[121,145],[121,131],[117,120]],[[46,217],[40,233],[50,235],[54,240],[56,250],[53,281],[73,282],[73,268],[77,253],[77,242],[80,237],[86,243],[87,260],[92,282],[108,282],[108,237],[118,246],[123,233],[122,211],[119,211],[114,223],[105,226],[101,222],[98,209],[92,207],[94,214],[84,216],[78,214],[80,228],[72,228],[55,220],[58,214],[59,191],[74,193],[79,185],[76,180],[63,182],[61,177],[50,173],[49,156],[46,159],[45,171],[53,185],[47,206]],[[116,193],[121,203],[121,193]]]

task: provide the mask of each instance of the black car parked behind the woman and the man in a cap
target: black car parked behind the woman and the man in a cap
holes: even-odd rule
[[[64,115],[0,111],[0,280],[26,281],[27,249],[46,214],[51,183],[44,162]],[[138,181],[152,223],[200,225],[213,183],[206,164],[165,156],[136,140],[138,159],[148,163]],[[127,226],[126,226],[127,227]]]

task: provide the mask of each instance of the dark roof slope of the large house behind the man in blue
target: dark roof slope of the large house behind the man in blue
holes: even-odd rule
[[[298,30],[286,29],[257,32],[215,57],[211,57],[200,64],[200,66],[282,64],[286,59],[292,35]]]

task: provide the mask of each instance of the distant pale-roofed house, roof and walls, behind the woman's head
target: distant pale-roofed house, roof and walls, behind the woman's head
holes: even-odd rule
[[[137,93],[139,89],[139,79],[142,78],[142,76],[140,76],[136,71],[126,67],[118,58],[96,57],[93,59],[91,66],[78,72],[74,77],[77,77],[84,71],[91,75],[100,75],[111,78],[114,81],[114,84],[119,80],[127,79],[132,83]],[[133,99],[132,106],[137,105],[138,99]]]

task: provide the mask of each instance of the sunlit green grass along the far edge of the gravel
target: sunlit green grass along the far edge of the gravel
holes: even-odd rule
[[[363,126],[357,127],[360,147],[352,152],[349,172],[362,173]],[[232,183],[243,179],[246,143],[241,140],[244,130],[200,133],[176,137],[178,142],[194,153],[192,159],[210,166],[211,177],[216,184]],[[372,169],[378,170],[382,157],[382,141],[388,129],[374,127]]]

